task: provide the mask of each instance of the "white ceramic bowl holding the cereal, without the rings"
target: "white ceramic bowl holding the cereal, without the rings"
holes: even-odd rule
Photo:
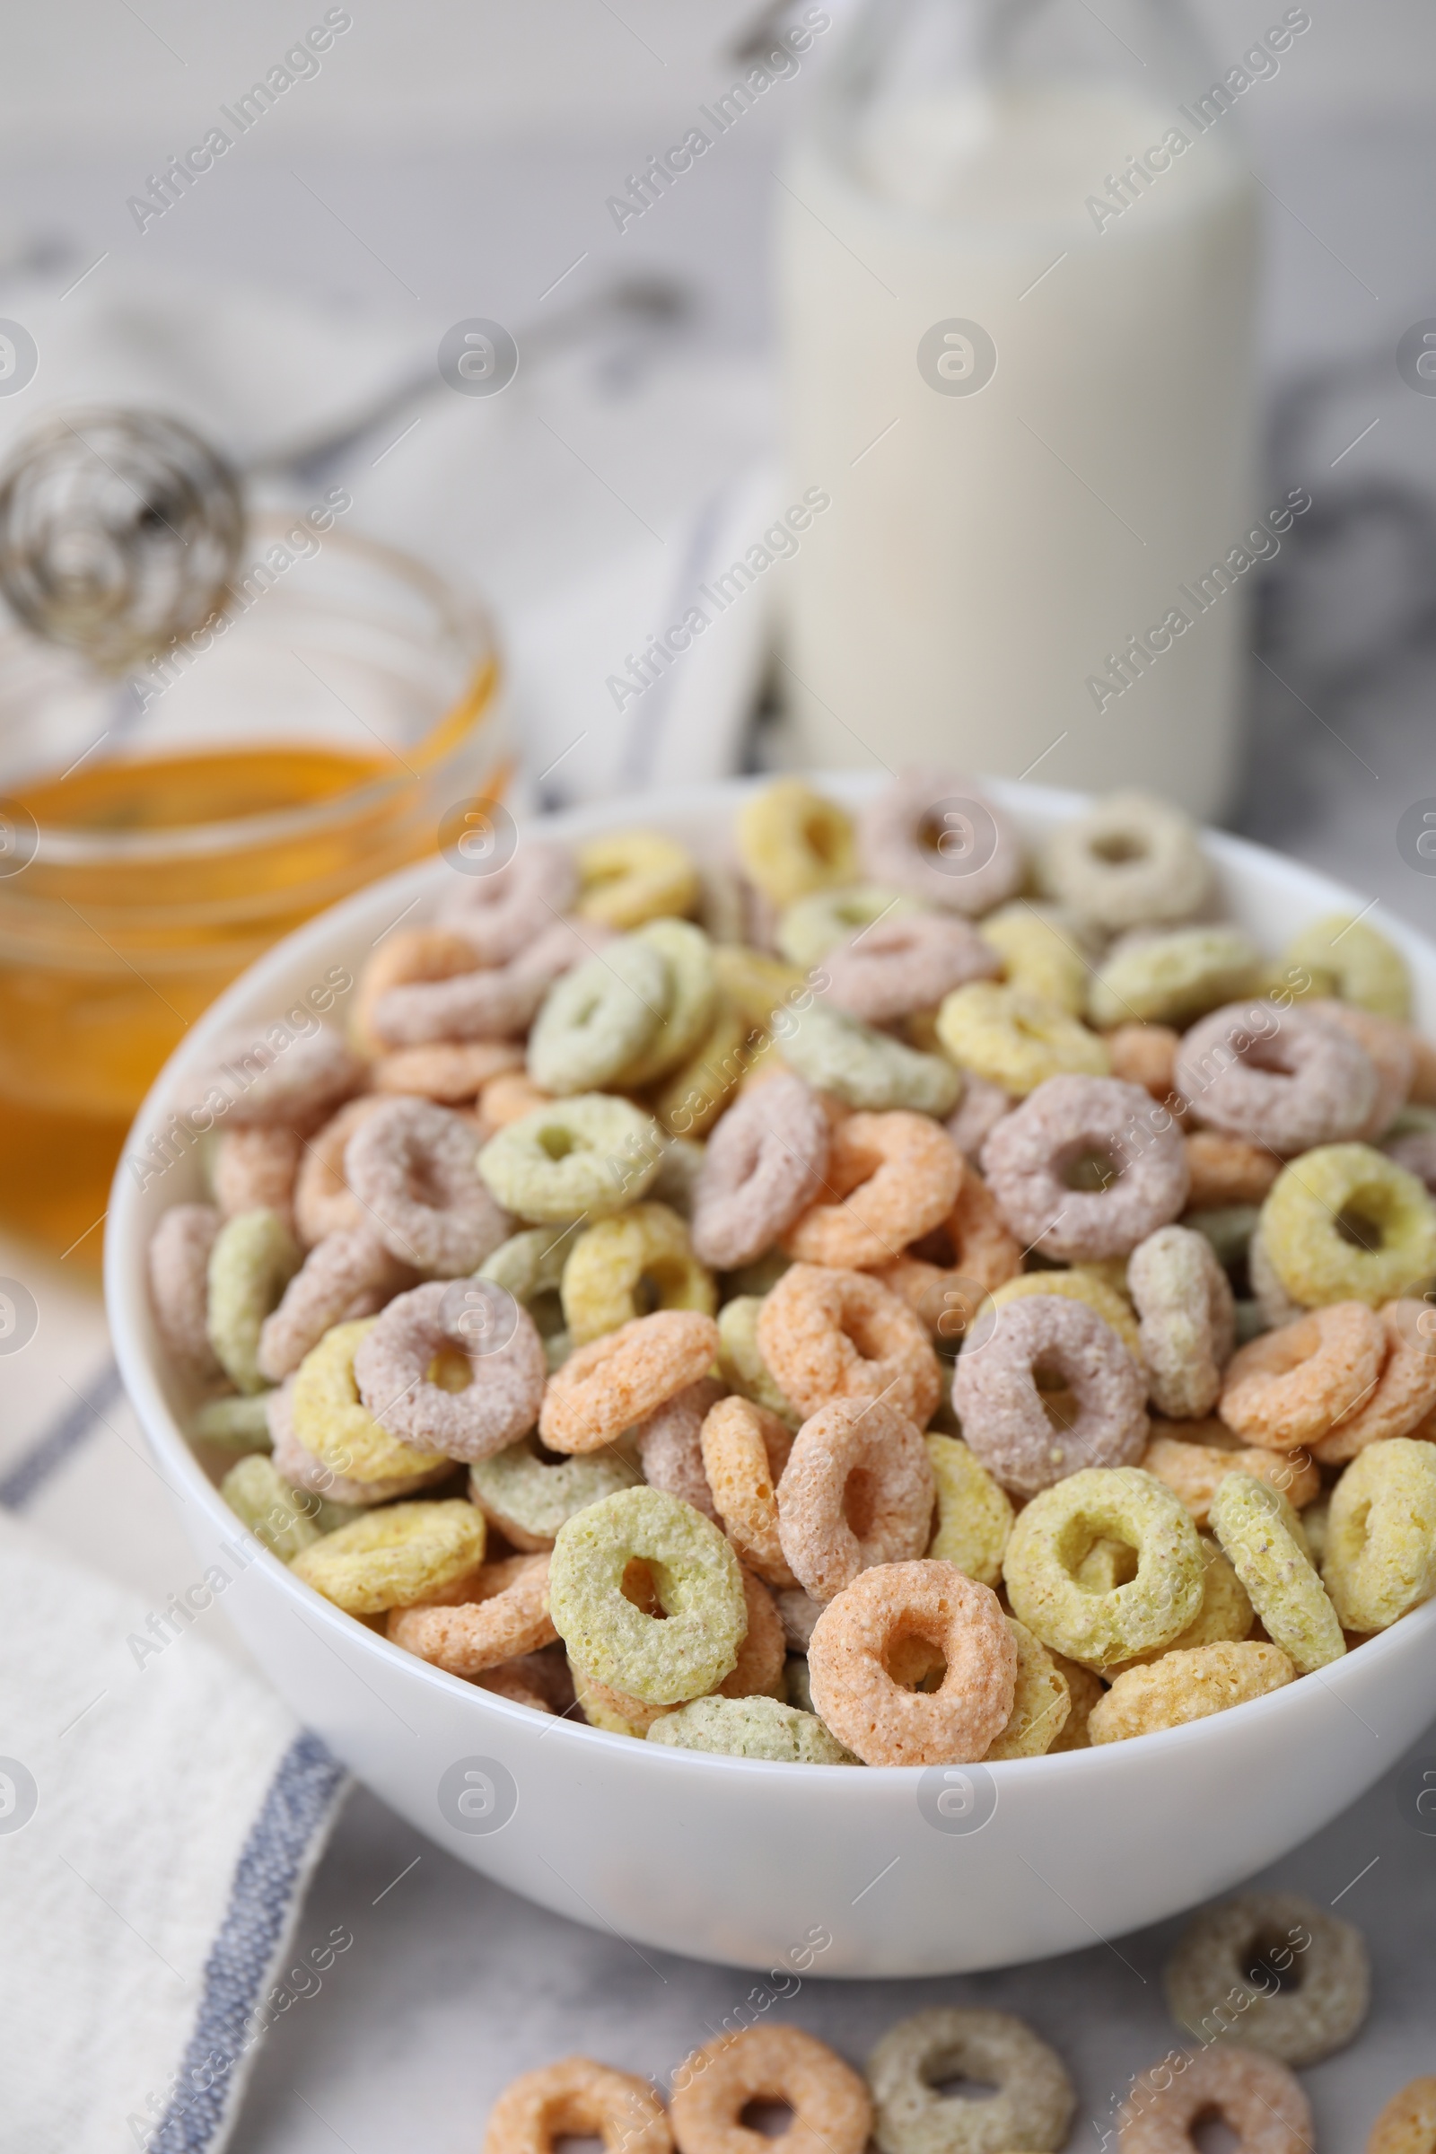
[[[870,780],[833,778],[844,799]],[[713,847],[741,782],[553,816],[553,836],[661,823]],[[992,784],[1033,836],[1074,795]],[[1266,948],[1350,892],[1212,836],[1231,913]],[[349,898],[248,971],[189,1032],[131,1137],[161,1129],[183,1073],[228,1025],[271,1019],[396,920],[422,920],[435,862]],[[409,911],[411,900],[418,900]],[[1436,950],[1386,924],[1436,1030]],[[105,1275],[121,1370],[200,1564],[235,1564],[235,1519],[181,1432],[144,1288],[159,1213],[200,1195],[194,1152],[146,1189],[121,1165]],[[245,1551],[248,1553],[248,1551]],[[990,1771],[756,1764],[633,1743],[478,1691],[390,1646],[258,1553],[224,1609],[295,1712],[461,1861],[575,1921],[736,1967],[790,1964],[818,1928],[827,1975],[928,1975],[1036,1960],[1193,1906],[1296,1846],[1386,1771],[1436,1712],[1436,1603],[1356,1654],[1193,1728]]]

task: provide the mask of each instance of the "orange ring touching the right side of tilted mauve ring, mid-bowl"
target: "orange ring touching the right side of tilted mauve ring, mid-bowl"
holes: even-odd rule
[[[788,1228],[784,1251],[803,1264],[872,1271],[952,1213],[962,1152],[911,1107],[850,1114],[833,1131],[822,1185],[827,1195]]]

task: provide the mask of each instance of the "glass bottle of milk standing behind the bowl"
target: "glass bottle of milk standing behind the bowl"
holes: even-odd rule
[[[831,495],[782,586],[801,760],[1223,808],[1259,50],[1214,75],[1178,0],[870,0],[777,196],[788,480]]]

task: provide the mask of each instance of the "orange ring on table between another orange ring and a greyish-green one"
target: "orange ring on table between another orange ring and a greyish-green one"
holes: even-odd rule
[[[743,2124],[749,2102],[788,2102],[784,2154],[863,2154],[872,2130],[868,2087],[827,2042],[801,2027],[745,2027],[674,2072],[680,2154],[764,2154],[769,2141]]]

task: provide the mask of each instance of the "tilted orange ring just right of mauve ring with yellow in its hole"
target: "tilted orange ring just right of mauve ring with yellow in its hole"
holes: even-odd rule
[[[698,1310],[654,1310],[579,1346],[549,1376],[538,1435],[555,1452],[596,1452],[698,1383],[717,1361],[719,1331]]]

